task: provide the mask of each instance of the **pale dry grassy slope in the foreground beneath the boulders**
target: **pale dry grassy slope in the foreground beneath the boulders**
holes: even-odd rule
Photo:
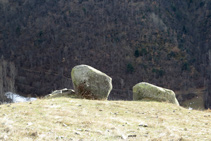
[[[210,119],[168,103],[60,97],[0,105],[0,140],[209,140]]]

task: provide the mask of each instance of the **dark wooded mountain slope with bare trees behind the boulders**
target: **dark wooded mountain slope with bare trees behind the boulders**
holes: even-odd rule
[[[113,78],[111,99],[146,81],[205,88],[210,107],[210,38],[209,0],[0,0],[0,55],[24,95],[70,88],[71,69],[87,64]]]

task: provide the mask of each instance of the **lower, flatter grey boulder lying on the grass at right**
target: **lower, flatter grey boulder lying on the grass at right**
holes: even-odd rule
[[[165,101],[179,105],[172,90],[161,88],[146,82],[141,82],[133,87],[133,100]]]

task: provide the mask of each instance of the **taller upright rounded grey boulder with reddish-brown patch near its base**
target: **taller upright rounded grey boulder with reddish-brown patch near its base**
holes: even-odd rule
[[[106,100],[112,89],[112,79],[88,65],[78,65],[71,72],[76,94],[87,99]]]

